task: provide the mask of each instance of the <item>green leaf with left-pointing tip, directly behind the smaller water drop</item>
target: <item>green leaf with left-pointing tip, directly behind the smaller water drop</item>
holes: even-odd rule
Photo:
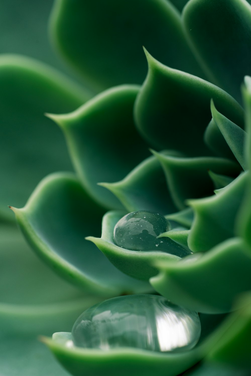
[[[120,182],[100,185],[110,190],[129,212],[150,210],[164,215],[176,209],[163,169],[154,156],[141,162]]]

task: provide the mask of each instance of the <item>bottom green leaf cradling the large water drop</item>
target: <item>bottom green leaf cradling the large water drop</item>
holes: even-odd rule
[[[63,338],[65,339],[63,340]],[[67,347],[70,333],[55,333],[53,338],[43,338],[58,361],[74,376],[176,376],[199,361],[201,347],[180,353],[158,353],[140,349],[84,349]],[[69,342],[68,342],[69,343]]]

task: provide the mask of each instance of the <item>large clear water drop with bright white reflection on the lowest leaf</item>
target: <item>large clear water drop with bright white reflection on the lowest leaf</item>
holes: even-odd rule
[[[163,296],[128,295],[87,309],[72,329],[73,343],[88,349],[118,347],[178,352],[199,340],[197,312],[174,305]]]

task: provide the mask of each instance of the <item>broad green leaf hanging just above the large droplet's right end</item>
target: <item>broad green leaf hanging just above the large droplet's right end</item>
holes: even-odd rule
[[[238,294],[251,290],[251,253],[231,238],[204,254],[180,262],[155,261],[160,273],[150,279],[155,290],[178,305],[209,314],[231,310]]]

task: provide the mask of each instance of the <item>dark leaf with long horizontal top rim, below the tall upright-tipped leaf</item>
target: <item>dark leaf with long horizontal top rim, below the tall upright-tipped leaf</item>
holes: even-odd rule
[[[240,172],[239,165],[223,158],[179,158],[156,152],[154,155],[163,167],[170,195],[178,209],[186,207],[187,199],[213,194],[213,182],[208,170],[232,176]]]

